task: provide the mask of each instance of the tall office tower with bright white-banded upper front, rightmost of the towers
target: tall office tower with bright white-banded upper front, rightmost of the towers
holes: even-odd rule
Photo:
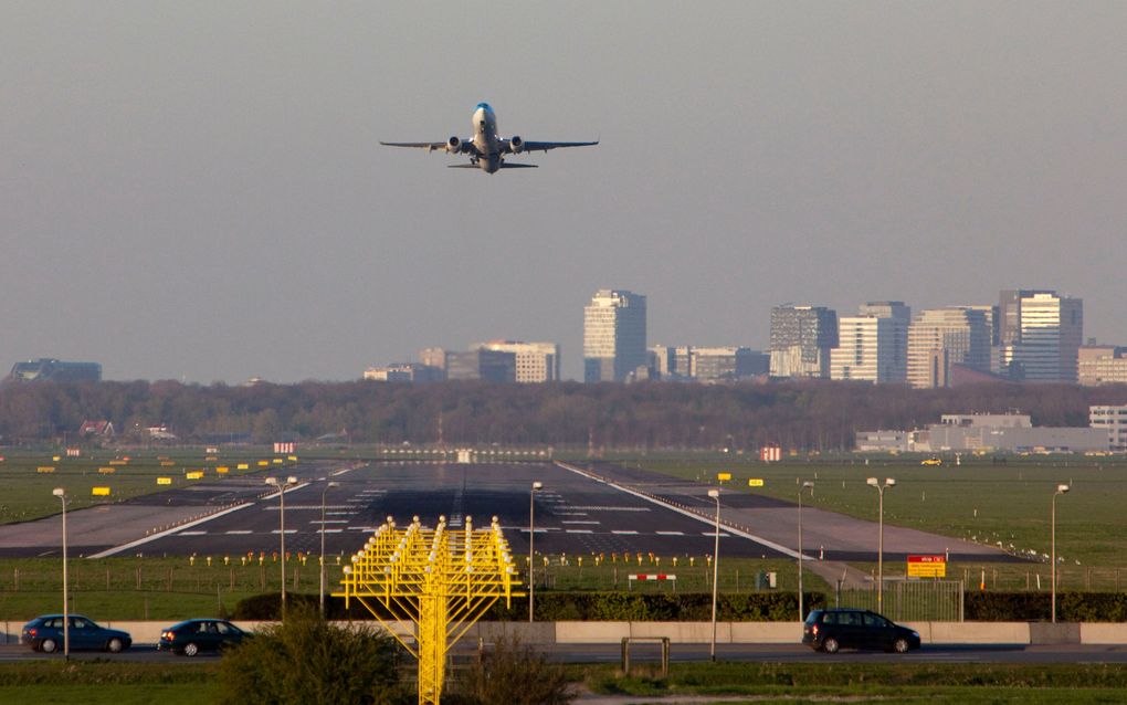
[[[999,370],[1011,379],[1075,382],[1084,335],[1082,299],[1055,291],[1002,291]]]

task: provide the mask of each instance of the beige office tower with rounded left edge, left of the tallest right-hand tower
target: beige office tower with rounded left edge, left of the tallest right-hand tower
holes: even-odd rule
[[[948,387],[953,364],[990,372],[988,311],[990,307],[969,306],[921,311],[908,326],[908,384],[920,389]]]

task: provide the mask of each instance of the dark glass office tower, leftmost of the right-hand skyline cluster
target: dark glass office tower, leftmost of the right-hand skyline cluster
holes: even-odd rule
[[[771,309],[771,376],[829,377],[837,347],[837,312],[822,306]]]

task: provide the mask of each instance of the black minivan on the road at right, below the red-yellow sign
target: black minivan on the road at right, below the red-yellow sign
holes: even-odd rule
[[[838,649],[904,653],[920,647],[920,634],[867,609],[815,609],[802,626],[802,643],[826,653]]]

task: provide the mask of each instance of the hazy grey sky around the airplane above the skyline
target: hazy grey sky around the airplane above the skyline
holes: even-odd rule
[[[1127,2],[0,5],[0,367],[352,379],[424,346],[765,347],[770,309],[1084,299],[1127,343]],[[601,138],[447,169],[379,140]]]

